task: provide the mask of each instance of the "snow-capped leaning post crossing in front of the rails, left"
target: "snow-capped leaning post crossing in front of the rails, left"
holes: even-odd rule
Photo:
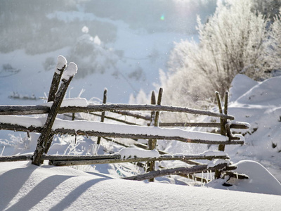
[[[55,122],[55,117],[58,114],[58,110],[60,109],[60,105],[63,102],[63,98],[65,96],[65,92],[67,91],[67,87],[69,86],[72,78],[77,72],[77,65],[75,63],[70,63],[68,65],[67,70],[65,71],[62,79],[62,84],[60,85],[60,89],[58,89],[57,94],[55,95],[55,99],[53,101],[53,105],[48,113],[46,122],[44,127],[41,129],[41,134],[37,141],[37,147],[34,151],[32,164],[40,165],[42,160],[42,155],[45,153],[45,148],[47,147],[49,136],[51,134],[51,129],[53,127],[53,122]],[[51,145],[51,143],[49,143]],[[47,152],[48,153],[48,152]]]

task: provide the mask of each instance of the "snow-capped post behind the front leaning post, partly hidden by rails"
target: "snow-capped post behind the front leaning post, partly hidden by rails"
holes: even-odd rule
[[[60,85],[60,79],[63,75],[63,71],[67,67],[67,60],[64,56],[58,56],[58,62],[55,67],[55,72],[53,73],[53,79],[50,87],[50,91],[48,91],[48,102],[55,100],[55,93],[58,91],[58,86]],[[73,118],[73,117],[72,117]],[[51,143],[53,141],[53,134],[50,134],[48,137],[48,142],[46,144],[46,148],[44,153],[48,153],[49,148],[51,147]]]

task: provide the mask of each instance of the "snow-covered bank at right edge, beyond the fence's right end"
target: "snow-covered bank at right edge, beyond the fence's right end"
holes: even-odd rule
[[[245,134],[244,146],[226,147],[226,152],[234,162],[255,160],[270,170],[279,181],[281,181],[280,84],[281,77],[273,77],[259,83],[253,82],[245,75],[235,77],[230,89],[232,102],[229,105],[229,113],[235,116],[235,121],[249,122],[251,128]]]

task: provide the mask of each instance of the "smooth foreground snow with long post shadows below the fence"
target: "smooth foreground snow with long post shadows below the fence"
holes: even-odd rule
[[[279,210],[281,196],[115,179],[70,167],[0,163],[0,210]],[[148,203],[149,202],[149,203]]]

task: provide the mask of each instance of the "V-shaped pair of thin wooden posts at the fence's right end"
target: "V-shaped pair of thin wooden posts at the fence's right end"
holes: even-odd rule
[[[218,101],[218,110],[222,114],[223,113],[223,106],[221,105],[221,96],[216,91],[216,100]],[[224,102],[224,114],[228,114],[228,92],[225,94],[225,102]],[[221,122],[221,135],[226,136],[226,118],[221,117],[220,119]],[[224,144],[219,144],[218,145],[218,151],[224,151],[225,150],[225,145]],[[221,171],[216,170],[215,171],[215,178],[218,179],[221,177]]]

